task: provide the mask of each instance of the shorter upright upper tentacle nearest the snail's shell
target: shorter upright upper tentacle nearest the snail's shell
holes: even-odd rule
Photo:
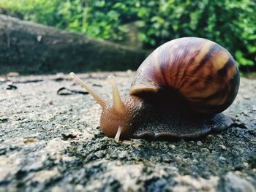
[[[124,113],[124,103],[123,101],[121,101],[121,97],[116,85],[116,80],[115,77],[113,75],[109,75],[108,76],[108,82],[111,84],[112,86],[112,93],[113,93],[113,109],[118,112],[119,114],[123,114]]]

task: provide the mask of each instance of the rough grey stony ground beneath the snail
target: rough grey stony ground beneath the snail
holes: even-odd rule
[[[125,95],[133,72],[115,74]],[[79,76],[111,96],[107,73]],[[237,126],[197,140],[109,139],[64,74],[1,77],[0,104],[0,191],[256,191],[256,80],[225,111]]]

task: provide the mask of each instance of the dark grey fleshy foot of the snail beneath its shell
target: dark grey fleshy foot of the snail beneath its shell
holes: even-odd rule
[[[163,105],[150,108],[154,109],[154,113],[146,112],[147,121],[136,123],[138,129],[133,133],[134,138],[198,138],[210,132],[224,131],[234,123],[230,117],[222,113],[205,116]]]

